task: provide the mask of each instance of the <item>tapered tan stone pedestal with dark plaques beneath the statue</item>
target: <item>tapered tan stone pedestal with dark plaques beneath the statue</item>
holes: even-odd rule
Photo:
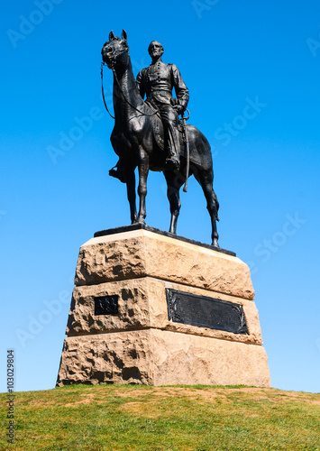
[[[80,248],[57,385],[270,387],[245,263],[146,226],[113,232]]]

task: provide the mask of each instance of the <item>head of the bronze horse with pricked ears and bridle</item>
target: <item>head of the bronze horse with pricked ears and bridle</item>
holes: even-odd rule
[[[109,41],[105,42],[101,51],[102,59],[109,69],[126,66],[129,61],[129,46],[127,43],[127,33],[123,30],[121,39],[110,32]]]

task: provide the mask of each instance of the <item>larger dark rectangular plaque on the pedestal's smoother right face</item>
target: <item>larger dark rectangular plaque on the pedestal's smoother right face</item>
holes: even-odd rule
[[[169,320],[233,334],[249,334],[240,304],[169,289],[166,295]]]

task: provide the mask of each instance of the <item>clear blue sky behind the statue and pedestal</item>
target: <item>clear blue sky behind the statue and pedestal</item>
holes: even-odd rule
[[[0,24],[0,391],[8,348],[16,391],[54,387],[78,248],[129,224],[100,86],[101,48],[123,28],[135,75],[157,40],[189,88],[190,123],[213,149],[220,245],[251,267],[272,386],[320,391],[319,2],[17,0]],[[105,68],[108,106],[111,89]],[[162,174],[148,189],[146,222],[168,230]],[[209,243],[194,179],[181,201],[178,234]]]

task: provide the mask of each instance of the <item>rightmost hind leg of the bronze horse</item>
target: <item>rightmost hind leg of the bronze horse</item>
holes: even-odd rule
[[[218,220],[219,202],[215,196],[214,184],[214,172],[213,170],[200,170],[196,176],[197,181],[200,183],[204,194],[206,196],[206,208],[209,212],[212,225],[212,245],[219,247],[218,238],[219,235],[216,230],[216,221]]]

